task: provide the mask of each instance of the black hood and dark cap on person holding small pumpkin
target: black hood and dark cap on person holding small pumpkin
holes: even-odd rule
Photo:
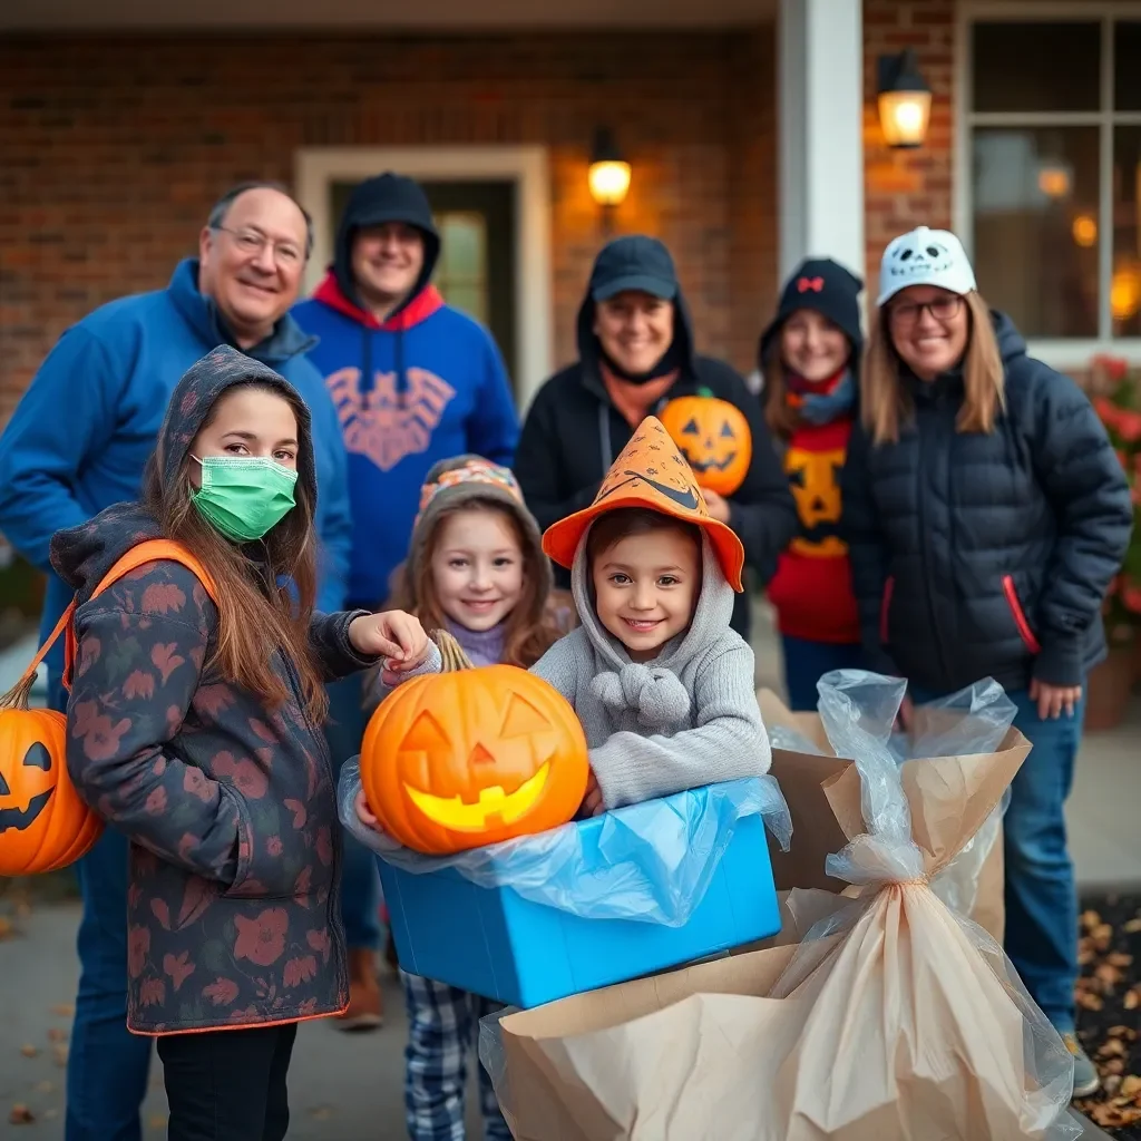
[[[693,321],[673,259],[657,238],[634,234],[607,243],[594,259],[576,326],[583,381],[600,394],[605,393],[598,367],[602,346],[594,335],[596,298],[613,297],[623,290],[653,293],[673,302],[673,343],[663,361],[669,358],[671,366],[680,369],[683,377],[696,377]]]

